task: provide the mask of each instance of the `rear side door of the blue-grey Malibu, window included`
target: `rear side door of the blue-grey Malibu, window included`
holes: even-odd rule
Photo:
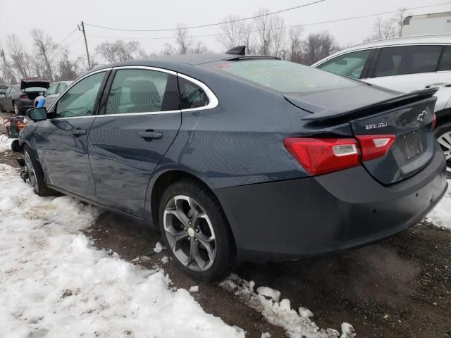
[[[89,134],[99,202],[142,216],[150,177],[181,125],[177,76],[156,68],[118,68]]]

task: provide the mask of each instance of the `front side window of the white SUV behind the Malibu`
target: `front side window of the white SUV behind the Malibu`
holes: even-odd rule
[[[332,60],[326,61],[325,63],[321,63],[318,68],[326,70],[330,73],[359,79],[360,75],[362,75],[362,70],[364,70],[366,59],[370,53],[370,49],[366,49],[365,51],[353,51],[351,53],[337,56]]]

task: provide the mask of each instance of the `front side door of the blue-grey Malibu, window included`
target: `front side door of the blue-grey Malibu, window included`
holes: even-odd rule
[[[39,123],[35,137],[49,183],[91,199],[95,189],[87,140],[107,73],[89,75],[70,88],[51,108],[53,118]]]

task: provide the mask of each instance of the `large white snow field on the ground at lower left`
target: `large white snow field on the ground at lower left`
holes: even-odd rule
[[[244,337],[162,271],[94,249],[79,230],[96,208],[39,197],[4,164],[0,184],[2,337]]]

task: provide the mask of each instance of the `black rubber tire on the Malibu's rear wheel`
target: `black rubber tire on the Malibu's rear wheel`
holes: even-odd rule
[[[169,244],[168,233],[166,232],[164,226],[164,211],[166,206],[169,205],[168,203],[173,201],[175,196],[180,195],[188,196],[190,199],[194,200],[198,204],[198,206],[202,207],[207,217],[211,221],[211,226],[214,230],[214,247],[216,254],[214,256],[214,260],[211,260],[211,266],[207,270],[196,271],[192,270],[192,268],[187,267],[182,263],[182,261],[179,260],[177,256],[175,256],[175,253],[173,249],[171,249],[171,245]],[[192,225],[193,229],[194,227],[195,225]],[[194,180],[186,179],[171,184],[163,193],[163,196],[161,196],[159,205],[159,228],[163,242],[165,243],[168,250],[171,251],[171,255],[173,256],[173,258],[175,258],[175,261],[178,263],[180,268],[185,273],[187,273],[187,275],[190,275],[194,280],[197,280],[199,282],[215,282],[222,280],[224,277],[227,277],[233,270],[236,263],[237,254],[232,231],[230,230],[226,215],[224,214],[218,199],[216,199],[216,196],[214,196],[214,194],[206,186],[204,186],[204,184],[196,182]],[[187,239],[189,239],[190,241],[192,241],[192,239],[195,239],[194,237],[192,237],[192,234],[190,234],[190,236],[190,238],[187,237]],[[198,243],[197,245],[202,249],[202,246],[199,246],[200,243]]]

